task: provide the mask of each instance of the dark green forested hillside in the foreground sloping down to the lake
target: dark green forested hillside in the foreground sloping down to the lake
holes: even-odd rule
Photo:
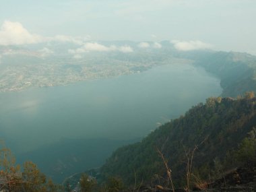
[[[236,152],[243,151],[248,133],[256,133],[255,102],[252,92],[237,100],[208,98],[205,104],[193,106],[185,116],[162,125],[141,142],[119,148],[102,166],[99,179],[115,176],[128,185],[135,180],[163,184],[166,168],[157,148],[168,160],[176,186],[184,186],[187,160],[193,150],[193,173],[205,180],[209,176],[216,179],[220,169],[225,172],[247,160],[246,155],[236,156]],[[255,152],[252,150],[253,156]]]

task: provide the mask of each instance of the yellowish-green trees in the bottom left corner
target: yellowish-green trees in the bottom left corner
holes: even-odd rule
[[[24,171],[15,164],[15,158],[8,148],[0,149],[0,191],[7,192],[58,192],[62,188],[40,172],[33,162],[24,163]]]

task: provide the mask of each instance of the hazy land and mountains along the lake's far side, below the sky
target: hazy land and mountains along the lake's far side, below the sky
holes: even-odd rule
[[[256,90],[256,57],[211,50],[179,51],[170,41],[51,42],[0,46],[0,91],[59,86],[137,73],[158,65],[193,63],[221,79],[222,96]]]

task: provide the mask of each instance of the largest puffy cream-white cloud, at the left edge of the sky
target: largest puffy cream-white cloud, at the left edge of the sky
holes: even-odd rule
[[[0,44],[32,44],[44,41],[42,36],[30,34],[22,24],[18,22],[3,22],[0,29]]]

